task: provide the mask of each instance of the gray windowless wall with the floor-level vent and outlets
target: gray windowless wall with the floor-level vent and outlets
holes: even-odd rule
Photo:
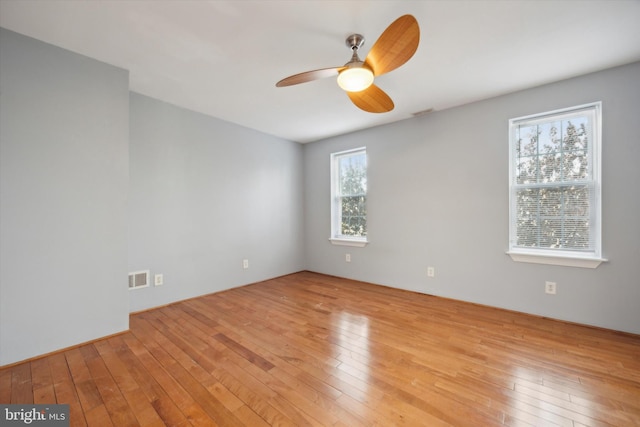
[[[131,311],[304,268],[302,146],[131,94]],[[249,268],[242,268],[242,260]]]

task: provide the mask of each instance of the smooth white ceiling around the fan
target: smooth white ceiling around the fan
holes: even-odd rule
[[[389,113],[356,108],[335,79],[396,18],[421,29],[415,56],[376,79]],[[310,142],[640,60],[639,0],[0,0],[0,26],[130,71],[130,88]],[[640,79],[639,79],[640,84]]]

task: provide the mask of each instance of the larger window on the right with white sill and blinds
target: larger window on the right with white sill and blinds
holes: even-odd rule
[[[601,104],[509,121],[509,255],[597,267]]]

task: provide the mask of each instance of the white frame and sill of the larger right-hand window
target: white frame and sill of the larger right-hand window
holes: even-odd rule
[[[590,206],[592,218],[591,237],[593,239],[593,250],[571,251],[565,249],[543,249],[516,246],[517,239],[517,213],[516,213],[516,191],[523,188],[517,183],[516,168],[516,130],[523,124],[532,125],[544,123],[552,120],[586,114],[590,117],[591,126],[588,130],[590,144],[590,180],[587,183],[592,186],[593,205]],[[601,208],[601,152],[602,152],[602,103],[593,102],[570,108],[563,108],[545,113],[530,116],[518,117],[509,120],[509,250],[508,254],[514,261],[529,262],[536,264],[550,264],[570,267],[596,268],[602,262],[607,261],[602,258],[602,208]],[[543,184],[549,186],[549,184]],[[566,185],[558,183],[557,186]],[[540,184],[534,186],[539,187]]]

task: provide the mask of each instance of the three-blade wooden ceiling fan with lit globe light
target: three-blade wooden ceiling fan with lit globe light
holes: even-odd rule
[[[411,15],[403,15],[384,30],[364,61],[358,57],[358,49],[364,44],[364,37],[352,34],[347,37],[345,44],[353,54],[351,60],[342,67],[321,68],[294,74],[280,80],[276,86],[292,86],[338,76],[338,85],[347,92],[356,107],[369,113],[386,113],[393,110],[393,101],[373,84],[373,80],[411,59],[418,49],[419,42],[418,21]]]

